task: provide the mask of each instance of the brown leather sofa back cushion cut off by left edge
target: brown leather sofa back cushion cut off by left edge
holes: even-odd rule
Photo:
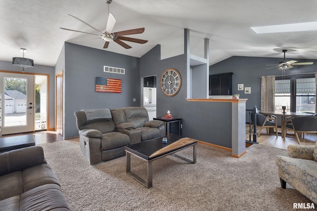
[[[0,200],[21,195],[22,193],[22,171],[15,171],[0,176]]]

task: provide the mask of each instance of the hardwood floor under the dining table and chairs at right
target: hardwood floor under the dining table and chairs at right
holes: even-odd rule
[[[260,127],[258,127],[258,132],[259,132]],[[280,132],[280,128],[278,130]],[[292,133],[291,131],[287,131],[287,133]],[[258,133],[257,133],[258,134]],[[251,137],[253,137],[253,131],[251,133]],[[249,125],[246,125],[246,139],[249,140]],[[252,140],[252,138],[251,138]],[[263,129],[261,131],[261,135],[258,136],[259,143],[265,145],[265,146],[271,146],[271,147],[276,147],[280,149],[287,149],[287,146],[289,144],[295,144],[299,145],[296,139],[296,136],[286,136],[285,140],[278,135],[276,138],[275,134],[267,134],[266,129]],[[301,145],[315,145],[317,141],[317,134],[316,133],[308,133],[305,134],[305,139],[300,138]]]

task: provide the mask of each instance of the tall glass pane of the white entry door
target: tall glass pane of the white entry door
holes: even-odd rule
[[[4,77],[4,127],[26,126],[27,79]]]

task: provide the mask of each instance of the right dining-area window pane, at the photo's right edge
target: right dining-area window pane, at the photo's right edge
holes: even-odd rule
[[[315,112],[315,78],[296,79],[296,112]]]

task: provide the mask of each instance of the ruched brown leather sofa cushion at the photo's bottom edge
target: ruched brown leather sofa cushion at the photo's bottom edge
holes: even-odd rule
[[[69,211],[64,194],[56,184],[33,188],[20,196],[20,211]]]

